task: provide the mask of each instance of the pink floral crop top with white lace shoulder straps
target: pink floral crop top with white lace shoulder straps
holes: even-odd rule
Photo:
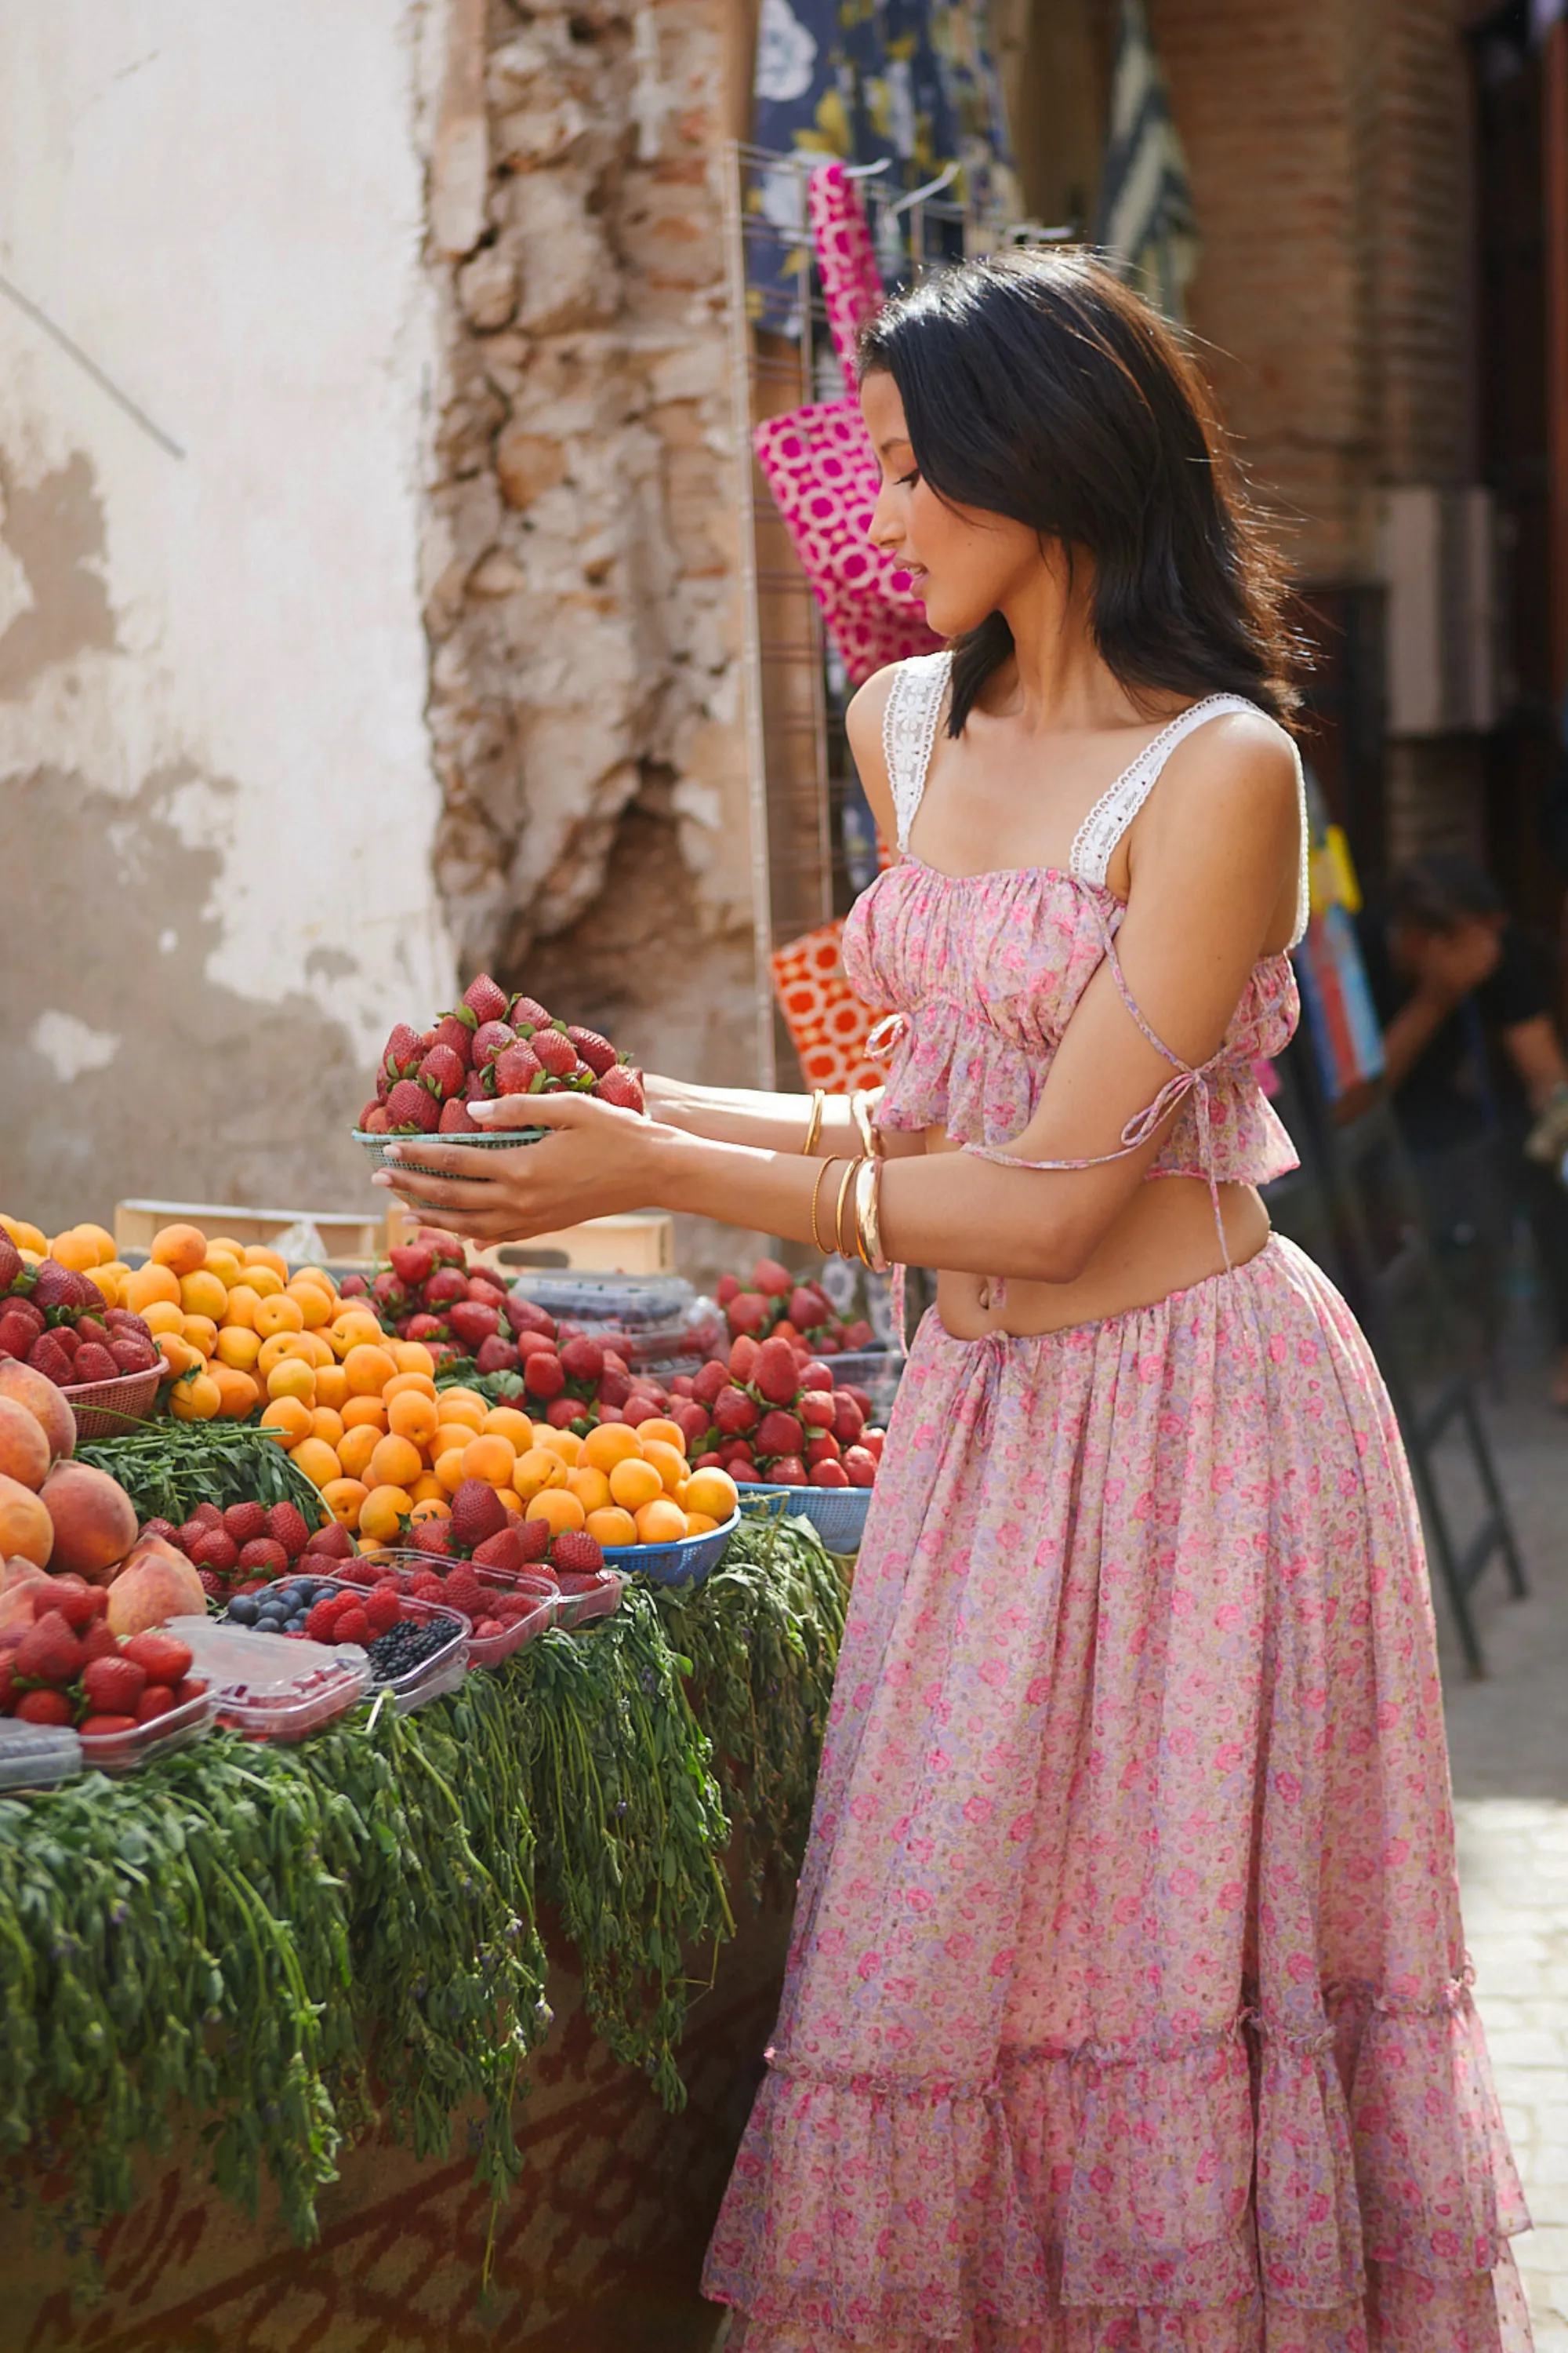
[[[1006,1146],[1034,1115],[1063,1031],[1110,955],[1131,1016],[1173,1064],[1173,1078],[1154,1104],[1128,1122],[1121,1151],[1135,1151],[1180,1101],[1150,1176],[1201,1176],[1211,1188],[1284,1176],[1298,1158],[1258,1087],[1253,1064],[1279,1054],[1295,1031],[1300,998],[1291,955],[1267,955],[1253,967],[1218,1054],[1192,1071],[1150,1031],[1126,991],[1114,948],[1126,906],[1105,885],[1112,849],[1180,739],[1220,711],[1255,711],[1255,704],[1208,694],[1171,720],[1088,812],[1067,873],[945,875],[910,854],[910,826],[926,786],[950,668],[950,654],[898,664],[884,748],[900,864],[877,875],[844,925],[851,988],[865,1005],[891,1007],[882,1038],[872,1038],[875,1049],[891,1047],[879,1125],[940,1125],[957,1144],[1009,1160]],[[1305,927],[1305,791],[1300,908]]]

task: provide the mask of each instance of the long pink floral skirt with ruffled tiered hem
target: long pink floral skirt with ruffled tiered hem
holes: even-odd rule
[[[1420,1525],[1274,1238],[905,1372],[705,2292],[745,2353],[1519,2353]]]

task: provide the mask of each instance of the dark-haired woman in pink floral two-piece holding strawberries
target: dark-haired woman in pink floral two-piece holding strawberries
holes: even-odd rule
[[[393,1179],[482,1240],[656,1202],[943,1268],[708,2294],[748,2353],[1528,2346],[1410,1485],[1255,1191],[1305,920],[1269,565],[1084,259],[891,304],[863,407],[952,645],[851,708],[886,1160],[844,1101],[651,1080]]]

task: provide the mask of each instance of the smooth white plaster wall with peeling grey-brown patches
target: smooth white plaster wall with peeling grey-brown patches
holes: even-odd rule
[[[0,12],[0,1205],[376,1200],[449,1002],[423,49],[386,0]],[[423,42],[423,49],[421,49]]]

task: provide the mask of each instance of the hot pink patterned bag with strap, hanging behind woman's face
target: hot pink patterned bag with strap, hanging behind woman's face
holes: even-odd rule
[[[882,301],[882,278],[842,162],[811,174],[809,212],[827,329],[851,381],[856,336]],[[860,685],[889,661],[933,652],[940,638],[910,595],[910,574],[870,541],[877,452],[858,400],[846,393],[769,416],[752,442],[851,682]]]

